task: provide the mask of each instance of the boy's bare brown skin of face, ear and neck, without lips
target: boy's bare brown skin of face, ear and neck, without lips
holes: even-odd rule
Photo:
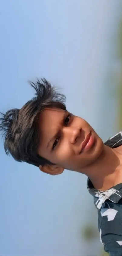
[[[111,149],[104,145],[90,124],[81,117],[58,108],[46,108],[38,117],[38,132],[38,154],[53,163],[39,166],[41,171],[51,175],[61,174],[64,169],[81,172],[99,190],[122,182],[122,146]],[[80,153],[90,132],[94,144]]]

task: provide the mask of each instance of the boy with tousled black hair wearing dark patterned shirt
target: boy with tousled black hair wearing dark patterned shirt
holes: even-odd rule
[[[104,250],[122,255],[122,133],[103,143],[87,121],[66,110],[65,96],[46,79],[30,84],[35,97],[0,119],[6,154],[51,175],[64,169],[87,175]]]

